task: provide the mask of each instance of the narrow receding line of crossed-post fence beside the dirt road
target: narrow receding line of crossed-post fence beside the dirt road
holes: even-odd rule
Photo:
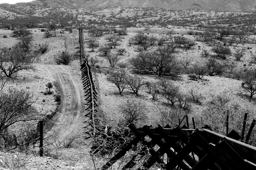
[[[87,121],[88,125],[92,127],[92,130],[87,131],[86,133],[89,135],[88,138],[95,135],[95,113],[97,112],[97,92],[93,82],[93,76],[90,71],[90,65],[88,64],[88,60],[85,58],[84,53],[84,35],[83,30],[79,27],[79,60],[81,65],[81,76],[82,82],[85,90],[85,96],[88,108],[86,111],[89,111],[85,116],[89,117],[90,121]],[[92,134],[91,134],[92,133]]]

